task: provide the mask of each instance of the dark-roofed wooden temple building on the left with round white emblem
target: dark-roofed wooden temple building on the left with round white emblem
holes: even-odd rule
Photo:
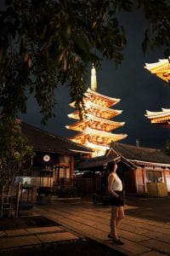
[[[29,160],[26,170],[23,169],[22,176],[40,177],[42,186],[51,187],[58,184],[61,178],[72,178],[75,159],[80,155],[88,157],[92,154],[91,148],[73,143],[33,125],[21,122],[20,127],[22,136],[27,137],[35,153],[33,159]]]

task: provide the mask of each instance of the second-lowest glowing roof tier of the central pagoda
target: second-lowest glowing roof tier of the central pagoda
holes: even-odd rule
[[[115,122],[108,119],[100,119],[88,113],[87,119],[82,119],[72,125],[67,125],[66,128],[73,131],[83,131],[87,127],[91,127],[100,131],[112,131],[124,124],[125,122]]]

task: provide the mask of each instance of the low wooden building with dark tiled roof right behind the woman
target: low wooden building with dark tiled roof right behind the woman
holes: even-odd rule
[[[161,149],[113,143],[105,155],[80,160],[77,169],[102,172],[117,156],[126,194],[165,197],[170,193],[170,156]]]

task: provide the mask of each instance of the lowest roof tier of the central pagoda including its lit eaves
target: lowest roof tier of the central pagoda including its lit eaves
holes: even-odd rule
[[[70,137],[72,141],[79,142],[84,140],[84,138],[88,138],[88,142],[91,143],[91,140],[96,141],[96,143],[105,142],[105,146],[109,145],[111,142],[116,142],[122,140],[123,138],[127,137],[127,134],[114,134],[107,131],[97,131],[91,128],[86,128],[84,131],[80,132],[76,136]],[[82,143],[84,144],[84,143]]]

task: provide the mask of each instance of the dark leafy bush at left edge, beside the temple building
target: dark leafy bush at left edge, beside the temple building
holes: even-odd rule
[[[33,157],[31,146],[21,135],[20,123],[1,119],[0,122],[0,186],[13,182],[14,177],[20,173],[27,160]]]

